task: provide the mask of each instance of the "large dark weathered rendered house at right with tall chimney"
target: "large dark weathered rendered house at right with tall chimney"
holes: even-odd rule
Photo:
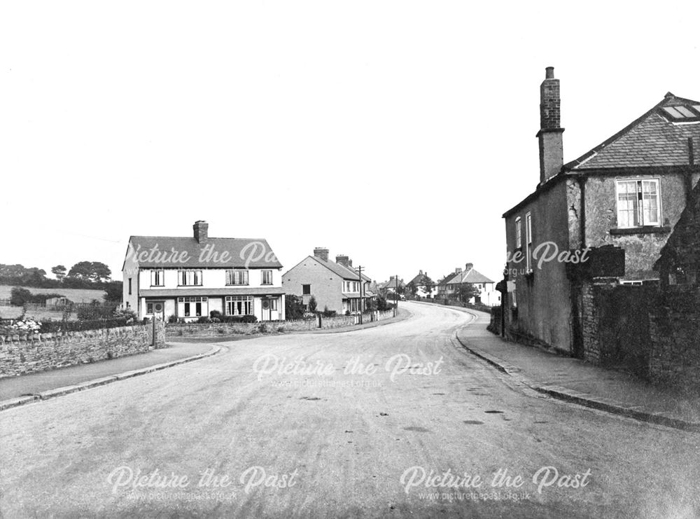
[[[505,321],[518,337],[583,357],[582,279],[659,280],[654,263],[700,178],[700,102],[668,92],[567,164],[560,111],[559,80],[548,67],[540,85],[540,182],[503,214]],[[594,117],[604,116],[598,111]],[[567,261],[586,250],[587,261]]]

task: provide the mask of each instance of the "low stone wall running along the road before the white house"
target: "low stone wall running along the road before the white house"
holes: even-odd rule
[[[393,310],[365,314],[363,322],[384,321],[393,317]],[[357,315],[321,317],[321,329],[344,328],[359,324]],[[167,324],[167,338],[182,337],[228,337],[229,335],[261,335],[265,333],[286,333],[292,331],[318,330],[318,318],[296,319],[293,321],[265,321],[260,323],[173,323]]]

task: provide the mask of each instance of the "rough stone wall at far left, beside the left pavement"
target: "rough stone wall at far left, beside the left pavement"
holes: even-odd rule
[[[64,333],[0,335],[0,377],[24,375],[153,350],[153,324]],[[156,323],[155,347],[165,346]]]

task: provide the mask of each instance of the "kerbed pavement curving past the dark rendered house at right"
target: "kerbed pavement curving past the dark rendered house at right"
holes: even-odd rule
[[[457,339],[467,350],[538,392],[636,420],[700,432],[700,398],[696,396],[652,385],[629,373],[508,342],[486,330],[489,314],[451,308],[472,315],[470,324],[457,331]]]

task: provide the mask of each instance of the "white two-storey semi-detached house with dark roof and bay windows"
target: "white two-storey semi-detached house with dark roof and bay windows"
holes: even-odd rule
[[[139,319],[195,321],[218,310],[282,320],[282,265],[266,240],[211,238],[197,221],[193,237],[132,236],[123,267],[123,306]]]

